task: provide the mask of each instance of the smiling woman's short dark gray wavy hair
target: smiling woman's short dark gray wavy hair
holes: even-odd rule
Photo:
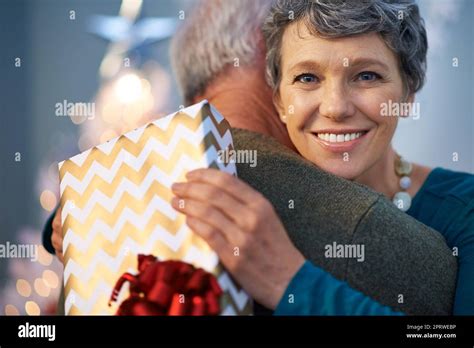
[[[325,38],[380,34],[398,56],[407,92],[415,93],[423,87],[428,41],[414,1],[277,0],[262,29],[268,48],[267,81],[275,92],[281,80],[283,33],[300,20],[313,35]]]

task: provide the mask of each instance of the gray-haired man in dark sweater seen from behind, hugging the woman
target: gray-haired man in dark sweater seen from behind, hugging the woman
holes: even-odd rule
[[[382,195],[323,172],[292,151],[265,81],[261,25],[271,4],[197,2],[171,48],[185,102],[208,99],[232,126],[235,148],[258,152],[256,168],[238,164],[238,176],[271,202],[307,259],[395,310],[450,314],[457,265],[441,235]],[[324,257],[324,246],[334,241],[364,245],[364,262]]]

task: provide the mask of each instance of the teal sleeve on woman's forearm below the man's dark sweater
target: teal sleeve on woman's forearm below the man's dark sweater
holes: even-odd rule
[[[404,315],[383,306],[306,261],[291,280],[275,315]]]

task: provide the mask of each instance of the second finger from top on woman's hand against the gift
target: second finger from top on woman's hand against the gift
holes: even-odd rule
[[[248,208],[240,200],[215,185],[188,182],[175,183],[171,188],[180,198],[190,198],[213,205],[237,225],[242,221],[242,217],[249,213]]]

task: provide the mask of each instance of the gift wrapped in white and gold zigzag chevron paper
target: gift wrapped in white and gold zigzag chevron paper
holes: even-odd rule
[[[224,291],[224,315],[250,314],[251,300],[214,251],[170,205],[171,185],[189,170],[219,168],[232,150],[229,124],[206,100],[59,163],[65,256],[65,313],[114,314],[116,281],[137,272],[137,255],[179,259],[213,273]]]

